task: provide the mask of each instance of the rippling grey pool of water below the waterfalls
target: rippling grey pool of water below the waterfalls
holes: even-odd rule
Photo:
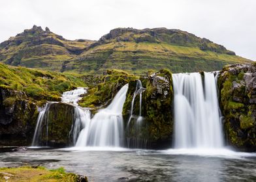
[[[0,153],[0,166],[65,167],[89,181],[256,181],[256,154],[228,150],[165,151],[71,148]]]

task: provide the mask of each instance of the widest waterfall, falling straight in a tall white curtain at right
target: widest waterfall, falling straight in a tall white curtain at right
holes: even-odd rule
[[[223,133],[214,73],[178,73],[174,86],[175,148],[221,148]],[[203,85],[204,83],[204,85]]]

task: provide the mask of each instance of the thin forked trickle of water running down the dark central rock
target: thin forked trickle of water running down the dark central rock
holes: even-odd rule
[[[130,112],[130,117],[128,120],[128,124],[131,122],[131,119],[133,118],[133,107],[134,107],[134,103],[135,103],[135,98],[138,94],[140,94],[140,111],[139,111],[139,116],[138,116],[138,121],[142,120],[142,116],[141,116],[141,105],[142,105],[142,92],[144,92],[145,88],[143,88],[141,81],[138,79],[136,80],[136,88],[135,88],[135,92],[133,94],[133,100],[131,101],[131,112]]]

